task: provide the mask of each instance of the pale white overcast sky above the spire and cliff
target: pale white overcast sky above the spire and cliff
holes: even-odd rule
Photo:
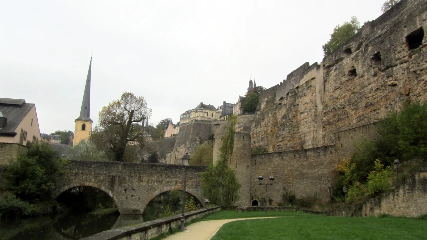
[[[200,102],[270,88],[321,62],[334,27],[380,16],[385,0],[2,0],[0,97],[35,103],[40,131],[74,131],[91,52],[91,118],[125,91],[154,126]]]

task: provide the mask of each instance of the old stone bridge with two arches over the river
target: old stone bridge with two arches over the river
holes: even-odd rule
[[[57,180],[53,197],[77,186],[91,186],[110,195],[121,214],[142,214],[157,195],[183,190],[184,170],[187,171],[186,191],[204,205],[199,173],[206,167],[184,169],[182,165],[150,163],[70,161],[64,175]]]

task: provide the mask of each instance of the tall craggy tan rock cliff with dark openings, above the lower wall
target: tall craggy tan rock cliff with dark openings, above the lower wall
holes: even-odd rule
[[[266,90],[251,145],[269,152],[333,145],[336,132],[427,100],[426,11],[424,0],[403,0],[320,64],[305,63]]]

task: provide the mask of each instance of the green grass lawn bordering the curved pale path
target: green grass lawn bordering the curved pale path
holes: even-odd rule
[[[201,220],[262,217],[264,212],[220,211]],[[427,239],[427,220],[397,217],[333,217],[269,212],[275,219],[230,222],[212,240],[226,239]]]

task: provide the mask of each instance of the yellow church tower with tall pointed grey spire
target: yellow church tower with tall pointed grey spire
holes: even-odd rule
[[[88,76],[86,78],[85,92],[83,93],[82,107],[80,108],[80,116],[74,121],[73,146],[79,144],[81,140],[87,140],[92,131],[92,119],[90,119],[90,74],[92,67],[92,57],[90,58]]]

